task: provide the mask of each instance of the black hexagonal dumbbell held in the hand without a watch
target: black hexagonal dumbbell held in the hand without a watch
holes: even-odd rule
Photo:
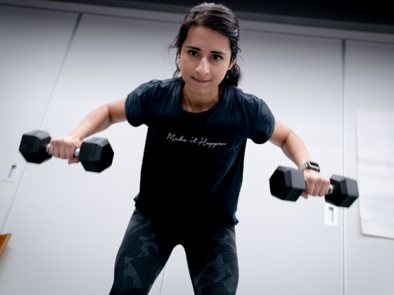
[[[49,143],[51,136],[46,131],[34,130],[23,134],[19,151],[27,162],[41,164],[51,159]],[[111,166],[113,150],[106,138],[88,138],[80,148],[74,150],[86,171],[101,172]]]

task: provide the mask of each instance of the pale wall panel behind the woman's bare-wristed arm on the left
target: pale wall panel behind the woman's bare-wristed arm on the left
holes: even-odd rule
[[[142,82],[171,77],[166,45],[176,27],[83,15],[42,128],[63,136],[95,107]],[[138,192],[145,134],[144,126],[127,123],[98,134],[115,152],[113,166],[100,174],[59,159],[27,166],[6,224],[17,233],[1,261],[6,294],[108,294]]]

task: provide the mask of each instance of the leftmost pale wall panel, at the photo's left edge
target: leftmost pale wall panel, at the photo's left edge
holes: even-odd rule
[[[25,170],[20,138],[42,123],[77,18],[77,13],[0,5],[0,232]]]

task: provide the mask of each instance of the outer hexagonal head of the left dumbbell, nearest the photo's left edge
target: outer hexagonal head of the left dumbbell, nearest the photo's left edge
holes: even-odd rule
[[[46,146],[50,141],[51,136],[48,132],[33,130],[23,134],[19,151],[27,162],[41,164],[52,157],[46,152]]]

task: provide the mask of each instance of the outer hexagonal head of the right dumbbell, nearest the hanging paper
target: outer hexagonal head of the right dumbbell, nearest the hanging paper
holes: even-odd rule
[[[331,185],[333,185],[333,192],[331,195],[326,195],[327,203],[334,204],[340,207],[349,207],[358,197],[357,181],[351,178],[333,175],[330,178]]]

